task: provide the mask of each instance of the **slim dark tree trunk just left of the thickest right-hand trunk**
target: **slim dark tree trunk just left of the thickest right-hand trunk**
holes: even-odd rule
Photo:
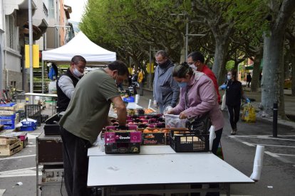
[[[254,65],[252,72],[251,91],[257,92],[259,88],[259,74],[260,74],[260,63],[262,62],[262,50],[257,53],[254,57]]]

